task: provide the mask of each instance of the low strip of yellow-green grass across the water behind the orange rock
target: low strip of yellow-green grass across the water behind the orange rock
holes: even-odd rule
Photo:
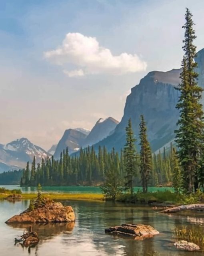
[[[22,199],[33,199],[36,198],[36,194],[21,194]],[[87,201],[92,201],[92,200],[99,200],[103,201],[104,196],[103,194],[47,194],[47,193],[42,193],[43,196],[53,199],[53,200],[87,200]],[[9,194],[0,194],[0,199],[4,199]]]

